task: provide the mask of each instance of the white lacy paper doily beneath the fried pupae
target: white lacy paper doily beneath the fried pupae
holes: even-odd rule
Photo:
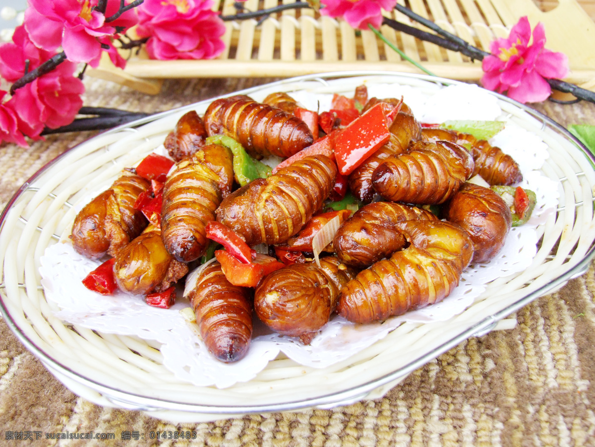
[[[368,91],[369,96],[403,95],[421,121],[506,120],[494,96],[474,86],[437,87],[436,92],[425,95],[414,87],[397,84],[369,85]],[[320,110],[330,108],[332,99],[332,95],[312,95],[306,91],[292,93],[292,96],[311,109],[317,109],[320,104]],[[538,171],[547,158],[547,147],[540,138],[509,121],[505,130],[490,143],[501,147],[522,164],[522,185],[537,194],[537,207],[531,220],[512,229],[503,250],[490,263],[468,267],[459,287],[444,301],[384,323],[354,325],[334,316],[311,345],[304,346],[296,339],[270,333],[264,325],[255,322],[255,336],[248,355],[237,363],[223,364],[206,351],[196,325],[187,323],[179,313],[180,309],[189,306],[187,300],[179,299],[171,309],[165,310],[146,305],[143,297],[120,291],[107,297],[91,292],[81,281],[100,262],[80,256],[68,241],[50,245],[40,259],[45,296],[60,307],[57,317],[67,322],[99,332],[158,341],[162,344],[165,367],[178,379],[198,386],[226,388],[236,382],[248,381],[279,352],[304,366],[330,366],[364,350],[405,321],[425,323],[450,319],[470,306],[488,282],[520,272],[531,264],[537,253],[536,227],[558,206],[558,184]]]

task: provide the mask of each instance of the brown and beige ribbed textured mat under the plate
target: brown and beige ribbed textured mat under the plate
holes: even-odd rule
[[[159,95],[146,96],[88,78],[85,105],[158,112],[268,81],[173,80]],[[564,126],[595,124],[593,104],[536,108]],[[2,207],[37,169],[94,134],[48,136],[29,149],[0,146]],[[595,445],[594,294],[591,265],[558,292],[519,310],[514,329],[468,339],[377,401],[201,424],[172,424],[79,398],[1,321],[0,445]],[[149,437],[182,430],[193,430],[196,439]],[[55,439],[88,432],[114,433],[115,440]]]

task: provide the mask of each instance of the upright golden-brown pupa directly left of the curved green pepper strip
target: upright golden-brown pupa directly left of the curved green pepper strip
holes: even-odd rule
[[[161,237],[180,262],[202,256],[205,227],[233,185],[233,155],[220,144],[208,144],[178,162],[163,187]]]

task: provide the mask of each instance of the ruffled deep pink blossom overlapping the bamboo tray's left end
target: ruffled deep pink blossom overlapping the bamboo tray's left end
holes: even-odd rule
[[[137,34],[152,59],[212,59],[225,49],[225,26],[211,0],[145,0]]]

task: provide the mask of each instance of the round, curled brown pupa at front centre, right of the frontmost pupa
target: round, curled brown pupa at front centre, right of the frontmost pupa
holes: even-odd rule
[[[275,332],[294,337],[306,335],[308,341],[309,334],[328,322],[339,292],[356,273],[334,256],[321,258],[320,267],[298,263],[275,270],[256,289],[256,315]]]

